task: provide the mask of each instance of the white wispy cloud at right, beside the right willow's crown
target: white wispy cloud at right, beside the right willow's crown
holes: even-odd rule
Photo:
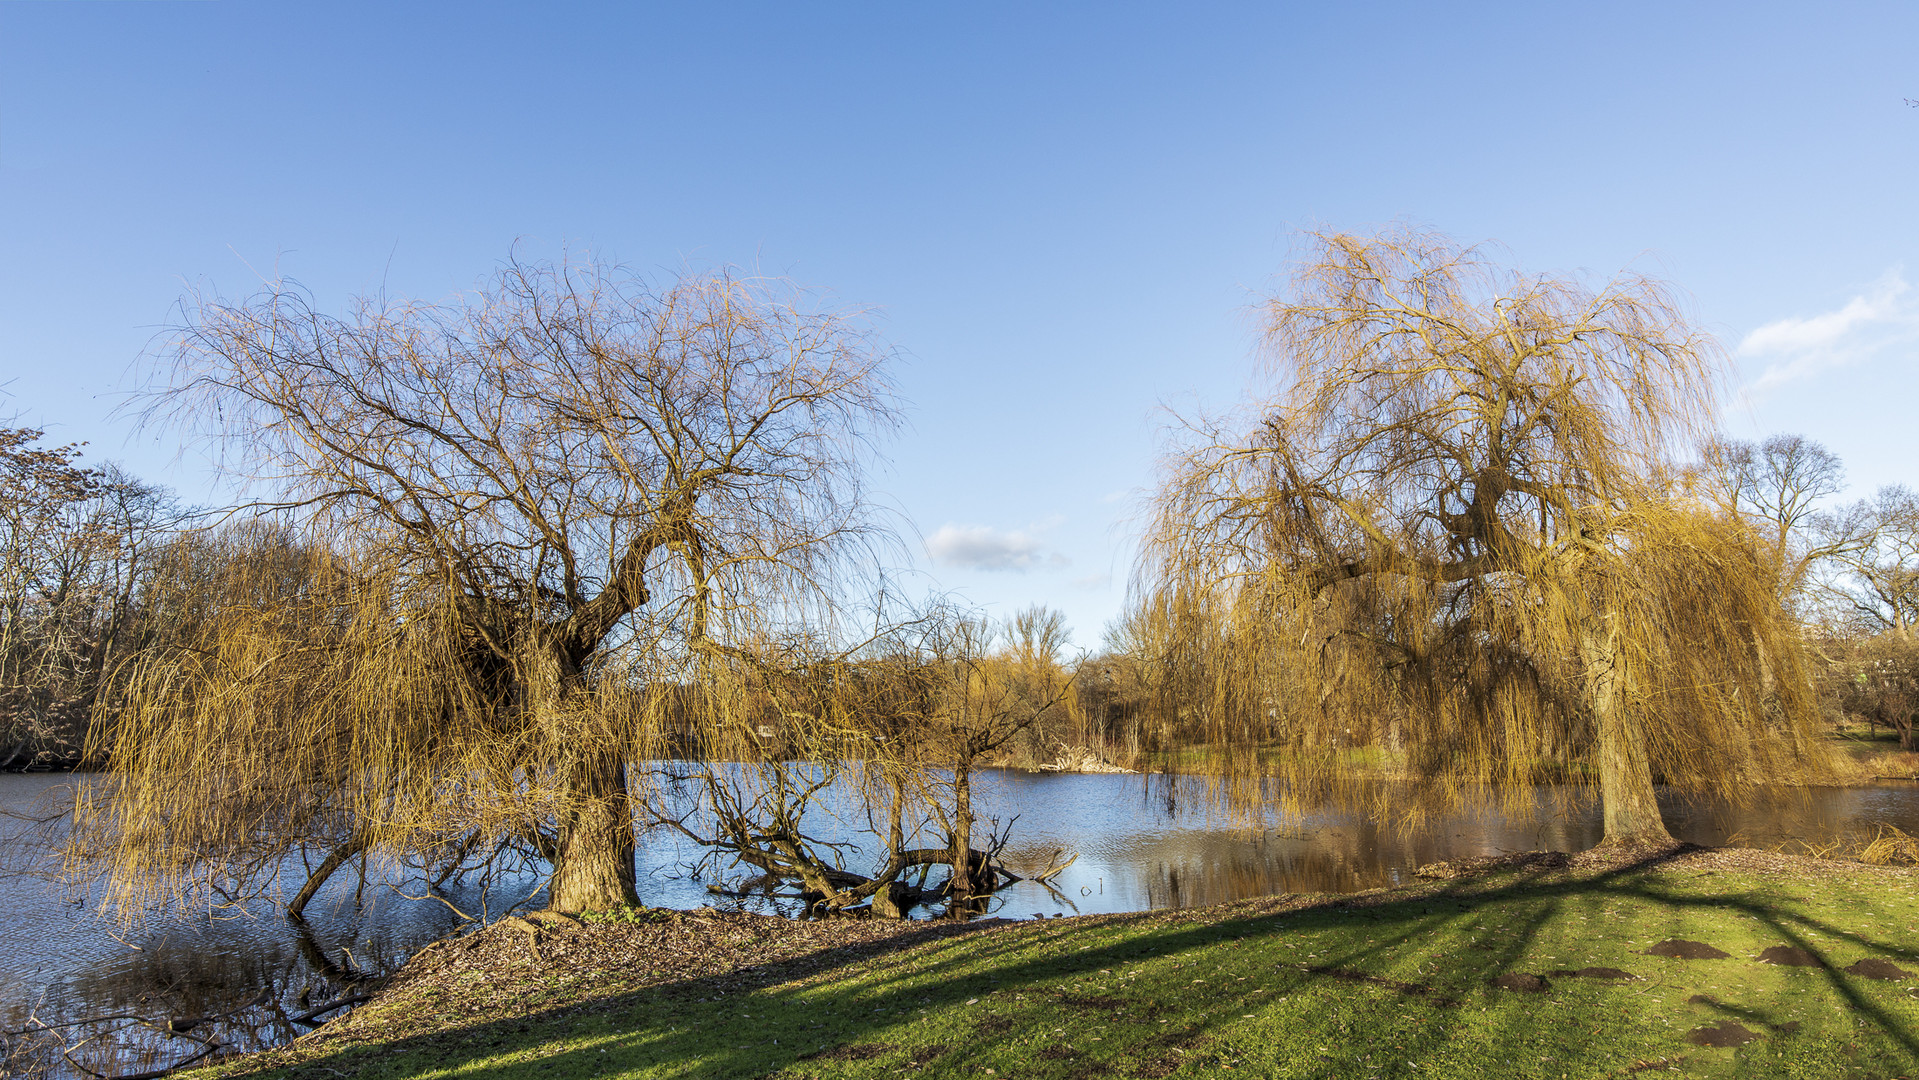
[[[1911,341],[1919,341],[1919,293],[1894,267],[1836,311],[1760,326],[1739,341],[1737,355],[1765,363],[1748,387],[1764,393]]]

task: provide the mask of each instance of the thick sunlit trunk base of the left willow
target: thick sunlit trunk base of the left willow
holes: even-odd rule
[[[560,811],[560,842],[547,886],[547,907],[606,911],[639,905],[624,748],[581,748],[566,771],[566,808]]]

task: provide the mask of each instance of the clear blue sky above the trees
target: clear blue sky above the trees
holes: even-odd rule
[[[6,4],[0,416],[211,499],[113,416],[188,286],[741,265],[900,349],[875,485],[927,585],[1094,646],[1165,409],[1244,393],[1301,226],[1668,276],[1733,434],[1919,481],[1913,42],[1911,4]]]

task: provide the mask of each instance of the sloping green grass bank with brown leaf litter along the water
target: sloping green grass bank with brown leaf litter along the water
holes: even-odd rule
[[[1913,871],[1739,848],[1455,869],[973,927],[493,927],[313,1036],[201,1074],[1919,1074]]]

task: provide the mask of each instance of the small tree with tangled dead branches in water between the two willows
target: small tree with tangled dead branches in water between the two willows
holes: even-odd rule
[[[700,762],[668,765],[695,806],[660,823],[752,867],[758,890],[796,888],[814,913],[867,900],[885,915],[936,900],[977,911],[1021,877],[998,863],[1011,823],[979,831],[975,773],[1071,689],[1032,625],[913,620],[856,654],[785,656],[712,681],[737,689],[710,706],[737,723],[706,729],[722,742]],[[864,817],[881,854],[817,836],[835,817]],[[946,880],[927,888],[936,867]]]

